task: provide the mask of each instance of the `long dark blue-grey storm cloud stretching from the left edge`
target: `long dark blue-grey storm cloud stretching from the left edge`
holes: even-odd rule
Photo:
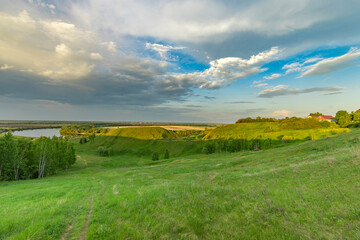
[[[95,72],[79,80],[54,81],[29,72],[0,71],[0,94],[75,105],[150,106],[184,100],[194,84],[172,81],[164,75],[165,69],[163,63],[130,58],[120,61],[110,73]]]

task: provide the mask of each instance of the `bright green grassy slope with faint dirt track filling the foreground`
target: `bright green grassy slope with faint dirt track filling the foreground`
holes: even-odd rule
[[[0,239],[360,238],[359,130],[157,162],[78,155],[58,176],[0,183]]]

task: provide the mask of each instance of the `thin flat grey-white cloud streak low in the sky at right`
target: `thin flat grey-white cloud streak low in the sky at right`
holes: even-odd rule
[[[334,92],[334,91],[341,91],[343,89],[344,89],[343,87],[315,87],[315,88],[306,88],[306,89],[289,89],[285,85],[278,85],[260,91],[258,97],[273,98],[277,96],[298,95],[298,94],[311,93],[311,92]]]

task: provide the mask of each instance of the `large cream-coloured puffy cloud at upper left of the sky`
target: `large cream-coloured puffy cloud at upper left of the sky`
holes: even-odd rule
[[[94,69],[87,53],[96,46],[90,33],[73,24],[35,19],[26,11],[17,16],[0,13],[0,63],[54,80],[79,79]]]

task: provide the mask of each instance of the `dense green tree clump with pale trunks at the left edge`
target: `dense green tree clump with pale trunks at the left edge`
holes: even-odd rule
[[[62,137],[37,140],[15,138],[11,132],[0,138],[0,180],[43,178],[68,169],[76,161],[75,150]]]

